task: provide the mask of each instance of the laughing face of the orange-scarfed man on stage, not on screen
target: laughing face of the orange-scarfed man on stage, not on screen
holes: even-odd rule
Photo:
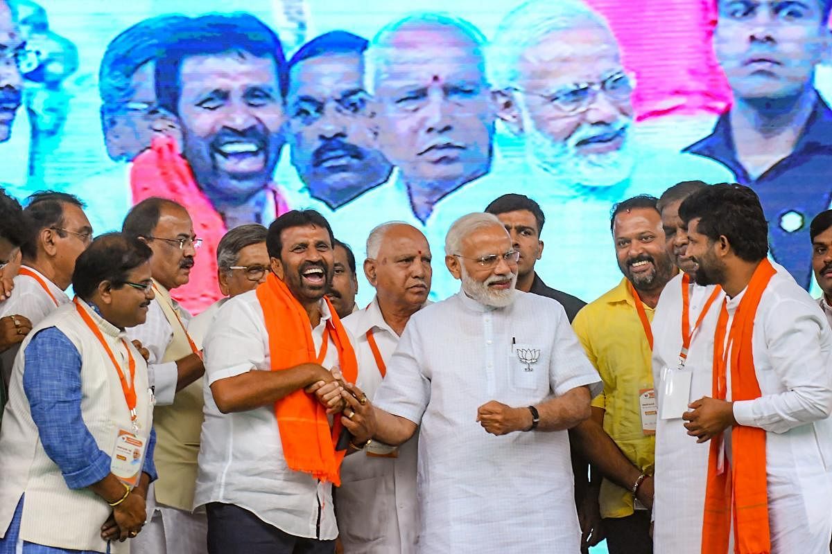
[[[332,285],[334,254],[329,233],[312,224],[285,228],[280,243],[280,259],[271,259],[272,271],[298,302],[318,302]]]

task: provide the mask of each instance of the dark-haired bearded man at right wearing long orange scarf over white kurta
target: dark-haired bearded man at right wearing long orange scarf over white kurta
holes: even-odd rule
[[[712,395],[682,416],[691,437],[711,441],[702,552],[829,552],[830,326],[817,302],[768,261],[768,225],[754,191],[707,187],[681,203],[679,215],[696,282],[726,292]]]

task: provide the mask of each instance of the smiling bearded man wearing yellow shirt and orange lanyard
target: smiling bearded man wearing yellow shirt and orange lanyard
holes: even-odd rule
[[[616,204],[610,227],[624,278],[572,322],[604,381],[592,401],[592,419],[572,431],[573,444],[593,466],[582,528],[590,545],[606,534],[610,554],[649,554],[656,434],[650,321],[676,267],[665,249],[655,197]]]

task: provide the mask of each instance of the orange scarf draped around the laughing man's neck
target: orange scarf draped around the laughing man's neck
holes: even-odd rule
[[[271,370],[315,363],[318,356],[314,351],[310,318],[285,283],[270,274],[266,282],[257,287],[256,294],[269,332]],[[328,334],[338,349],[341,373],[344,380],[354,383],[358,376],[355,351],[329,299],[324,297],[324,300],[332,316]],[[339,469],[346,453],[345,450],[335,451],[342,428],[340,419],[335,417],[330,429],[324,406],[303,389],[275,402],[275,417],[289,468],[311,473],[314,478],[339,486]]]

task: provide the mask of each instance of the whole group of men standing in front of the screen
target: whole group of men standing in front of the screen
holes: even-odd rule
[[[191,317],[181,204],[94,239],[72,195],[25,206],[0,195],[0,552],[830,548],[832,210],[819,300],[752,189],[686,181],[611,206],[622,279],[589,304],[543,282],[512,193],[443,263],[374,228],[363,308],[354,252],[291,210],[225,234]],[[459,292],[429,302],[434,271]]]

